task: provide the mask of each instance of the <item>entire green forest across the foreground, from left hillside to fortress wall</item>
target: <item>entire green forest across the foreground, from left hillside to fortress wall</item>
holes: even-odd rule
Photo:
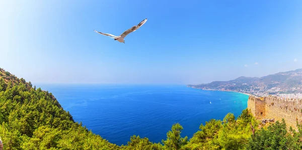
[[[263,126],[247,109],[201,124],[191,138],[181,137],[176,123],[160,143],[133,135],[119,146],[74,122],[48,91],[1,68],[0,112],[4,149],[302,149],[301,125],[298,131],[287,130],[284,120]]]

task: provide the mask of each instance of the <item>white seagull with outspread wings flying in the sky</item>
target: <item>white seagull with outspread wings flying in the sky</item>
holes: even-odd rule
[[[101,35],[104,35],[104,36],[109,36],[109,37],[112,37],[112,39],[114,40],[117,40],[118,42],[121,42],[121,43],[125,43],[125,40],[124,38],[130,34],[131,32],[134,32],[136,31],[138,28],[140,28],[143,24],[145,24],[147,22],[147,19],[144,19],[143,21],[141,21],[138,25],[136,26],[133,26],[132,28],[126,30],[124,33],[122,33],[120,36],[115,36],[115,35],[112,35],[112,34],[108,34],[108,33],[101,33],[101,32],[98,32],[96,30],[94,30],[96,33],[99,33]]]

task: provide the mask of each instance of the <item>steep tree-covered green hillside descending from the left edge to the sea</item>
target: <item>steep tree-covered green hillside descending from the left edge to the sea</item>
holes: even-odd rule
[[[0,137],[4,149],[118,149],[75,123],[55,97],[0,68]]]

